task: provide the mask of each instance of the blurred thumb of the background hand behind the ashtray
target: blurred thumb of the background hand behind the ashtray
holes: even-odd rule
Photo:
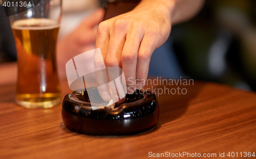
[[[89,15],[83,20],[82,26],[87,28],[93,28],[103,20],[103,17],[104,17],[104,9],[102,8],[97,9],[91,15]]]

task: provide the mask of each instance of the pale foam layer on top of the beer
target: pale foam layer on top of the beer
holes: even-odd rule
[[[12,24],[12,29],[16,30],[46,30],[58,28],[57,21],[46,18],[31,18],[16,20]]]

